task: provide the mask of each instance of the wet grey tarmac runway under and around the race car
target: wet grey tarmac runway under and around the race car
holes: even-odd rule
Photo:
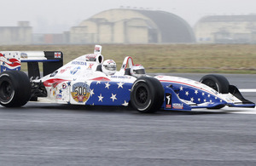
[[[201,74],[179,74],[195,80]],[[255,75],[225,75],[256,89]],[[255,92],[244,92],[256,102]],[[29,102],[0,107],[0,165],[256,165],[255,108],[141,114]]]

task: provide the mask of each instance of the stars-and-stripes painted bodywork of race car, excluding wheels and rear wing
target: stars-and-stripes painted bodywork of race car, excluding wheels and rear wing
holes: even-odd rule
[[[134,65],[131,57],[126,57],[120,71],[111,76],[97,71],[98,66],[102,64],[99,57],[99,54],[82,55],[58,69],[54,77],[43,77],[41,81],[49,91],[49,98],[63,104],[128,106],[131,101],[131,87],[137,80],[137,77],[125,75],[125,67]],[[155,78],[165,90],[162,109],[192,110],[226,105],[245,106],[231,94],[219,94],[194,80],[171,76]]]

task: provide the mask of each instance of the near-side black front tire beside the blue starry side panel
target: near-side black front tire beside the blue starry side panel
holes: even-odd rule
[[[152,113],[160,109],[164,101],[164,89],[154,77],[139,77],[131,88],[131,106],[138,112]]]

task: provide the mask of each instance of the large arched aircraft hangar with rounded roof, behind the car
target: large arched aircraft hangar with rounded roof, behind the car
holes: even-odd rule
[[[189,24],[176,14],[109,9],[73,26],[70,43],[195,43]]]

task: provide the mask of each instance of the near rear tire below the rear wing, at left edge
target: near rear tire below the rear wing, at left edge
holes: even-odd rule
[[[0,104],[2,106],[24,106],[30,97],[31,83],[26,73],[6,71],[0,74]]]

